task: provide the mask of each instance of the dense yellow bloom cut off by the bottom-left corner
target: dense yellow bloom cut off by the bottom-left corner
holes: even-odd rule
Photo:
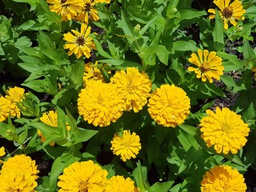
[[[33,192],[38,186],[38,172],[35,161],[25,154],[8,158],[0,172],[1,191]]]

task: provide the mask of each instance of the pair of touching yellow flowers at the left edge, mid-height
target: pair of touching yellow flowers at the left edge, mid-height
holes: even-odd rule
[[[14,86],[6,90],[6,96],[0,96],[0,122],[6,121],[6,118],[21,117],[21,110],[18,108],[18,104],[22,102],[24,98],[25,90],[23,88]]]

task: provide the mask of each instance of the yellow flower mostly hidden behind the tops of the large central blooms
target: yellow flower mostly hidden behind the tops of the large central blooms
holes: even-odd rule
[[[102,82],[105,82],[101,70],[98,69],[98,62],[96,61],[93,65],[91,62],[87,62],[85,65],[85,70],[83,73],[83,84],[86,86],[86,84],[89,81],[97,81],[100,80]]]

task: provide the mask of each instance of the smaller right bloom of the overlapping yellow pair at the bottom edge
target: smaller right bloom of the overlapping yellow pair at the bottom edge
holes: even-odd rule
[[[123,178],[117,175],[107,181],[105,192],[138,192],[138,187],[134,186],[134,181],[130,178]]]

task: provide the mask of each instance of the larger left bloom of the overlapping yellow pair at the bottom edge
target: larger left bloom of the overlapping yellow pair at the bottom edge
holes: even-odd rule
[[[91,160],[74,162],[58,177],[60,181],[57,185],[61,188],[58,191],[103,192],[106,187],[106,175],[107,171]]]

